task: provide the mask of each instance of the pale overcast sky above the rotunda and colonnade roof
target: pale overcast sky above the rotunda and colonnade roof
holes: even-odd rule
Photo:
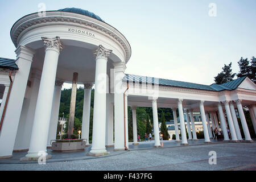
[[[210,85],[224,64],[256,56],[255,0],[4,1],[0,0],[0,57],[15,59],[10,30],[22,16],[77,7],[117,28],[131,45],[126,73]],[[216,5],[216,11],[210,3]],[[210,13],[210,15],[209,15]],[[213,16],[216,13],[216,16]],[[65,88],[71,87],[69,84]]]

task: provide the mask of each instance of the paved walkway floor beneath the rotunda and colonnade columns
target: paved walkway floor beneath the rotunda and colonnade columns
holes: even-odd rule
[[[229,143],[223,142],[222,140],[214,140],[210,139],[212,143],[210,144],[217,144],[217,143]],[[189,146],[198,146],[198,145],[210,145],[204,143],[204,139],[199,139],[198,141],[188,140]],[[256,140],[254,139],[254,142]],[[147,150],[147,149],[154,149],[154,140],[148,142],[138,142],[138,145],[133,145],[133,142],[129,142],[129,150]],[[180,145],[181,142],[175,142],[175,140],[161,140],[161,148],[172,148],[172,147],[184,147]],[[52,152],[51,149],[47,149],[47,153],[52,155],[51,159],[47,159],[46,163],[51,162],[68,162],[72,160],[85,160],[85,159],[96,159],[96,158],[107,158],[109,156],[121,155],[125,154],[128,151],[114,151],[114,147],[106,147],[106,150],[110,152],[110,155],[105,156],[87,156],[86,154],[90,151],[91,146],[85,147],[84,151],[76,151],[76,152]],[[20,162],[19,159],[22,158],[27,151],[23,152],[13,152],[13,158],[9,159],[0,159],[0,164],[26,164],[26,163],[38,163],[38,162]]]

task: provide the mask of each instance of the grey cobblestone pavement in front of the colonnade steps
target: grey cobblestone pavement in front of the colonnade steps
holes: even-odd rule
[[[216,151],[217,164],[209,164]],[[201,146],[127,151],[97,159],[39,164],[0,164],[0,170],[255,170],[256,143],[218,143]]]

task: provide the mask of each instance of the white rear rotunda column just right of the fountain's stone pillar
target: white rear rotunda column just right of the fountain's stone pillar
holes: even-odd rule
[[[92,93],[92,83],[84,83],[84,106],[82,108],[82,133],[81,138],[86,139],[86,146],[90,146],[89,143],[89,131],[90,131],[90,95]]]

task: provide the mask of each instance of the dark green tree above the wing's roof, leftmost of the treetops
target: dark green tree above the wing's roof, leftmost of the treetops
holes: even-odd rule
[[[224,67],[222,67],[222,71],[218,73],[216,77],[214,77],[214,82],[216,84],[224,84],[225,82],[232,81],[234,76],[236,76],[236,73],[232,73],[232,62],[230,62],[229,65],[224,64]]]

